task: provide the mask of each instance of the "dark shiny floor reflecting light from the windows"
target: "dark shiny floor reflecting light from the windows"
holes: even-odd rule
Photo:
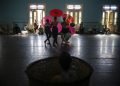
[[[45,35],[0,35],[0,86],[29,86],[26,67],[62,51],[88,62],[90,86],[120,86],[120,36],[73,35],[69,45],[45,46]],[[51,38],[52,42],[52,38]],[[119,84],[119,85],[118,85]]]

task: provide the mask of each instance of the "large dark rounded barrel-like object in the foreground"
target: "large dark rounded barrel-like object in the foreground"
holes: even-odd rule
[[[26,69],[30,86],[89,86],[92,67],[85,61],[71,57],[70,69],[64,71],[58,57],[38,60]]]

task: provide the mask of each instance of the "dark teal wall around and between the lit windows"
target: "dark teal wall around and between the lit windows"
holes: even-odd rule
[[[2,15],[0,21],[6,23],[28,22],[30,4],[45,4],[46,15],[49,15],[49,11],[54,8],[65,12],[67,4],[80,4],[83,8],[83,22],[89,26],[96,22],[101,24],[103,5],[119,3],[120,0],[0,0],[0,4],[2,4],[0,5],[2,8],[2,10],[0,9],[0,15]]]

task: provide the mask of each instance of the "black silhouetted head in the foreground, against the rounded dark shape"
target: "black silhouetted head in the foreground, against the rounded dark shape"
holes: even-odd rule
[[[69,70],[71,62],[72,62],[72,58],[70,54],[67,52],[62,52],[59,57],[59,63],[64,71]]]

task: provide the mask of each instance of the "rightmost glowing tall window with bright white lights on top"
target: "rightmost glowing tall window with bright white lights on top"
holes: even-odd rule
[[[107,25],[111,31],[115,31],[118,18],[118,7],[116,5],[104,5],[102,14],[102,25]]]

